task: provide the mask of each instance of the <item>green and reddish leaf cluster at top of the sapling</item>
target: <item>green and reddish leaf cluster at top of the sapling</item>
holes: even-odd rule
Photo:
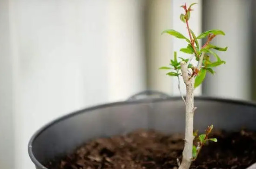
[[[217,51],[226,51],[228,47],[219,47],[214,44],[210,44],[211,40],[215,38],[217,35],[225,35],[225,33],[221,30],[209,30],[201,33],[200,35],[196,36],[195,33],[189,29],[189,19],[190,19],[190,12],[193,11],[191,7],[195,5],[196,3],[193,3],[187,8],[186,4],[184,6],[181,6],[185,14],[180,15],[180,19],[182,22],[186,23],[188,27],[189,32],[189,38],[185,37],[182,33],[175,31],[173,29],[168,29],[162,32],[168,33],[171,36],[174,36],[175,38],[184,39],[188,45],[185,48],[181,48],[180,51],[186,54],[191,54],[195,56],[196,61],[200,61],[202,58],[202,65],[200,65],[200,69],[198,69],[198,65],[192,65],[189,64],[188,67],[192,69],[191,76],[195,76],[195,88],[198,87],[200,84],[202,84],[203,80],[206,77],[207,73],[210,73],[212,75],[215,74],[215,71],[213,68],[220,66],[222,64],[225,64],[226,62],[223,61],[218,54],[215,52]],[[198,43],[198,39],[207,38],[206,43],[200,47]],[[179,76],[181,75],[179,73],[179,70],[181,69],[180,63],[177,61],[176,52],[174,52],[174,60],[170,60],[169,66],[170,67],[161,67],[160,69],[169,69],[172,70],[167,73],[167,75],[170,76]],[[185,59],[183,57],[179,57],[182,59],[182,61],[185,61],[186,63],[189,62],[189,59]]]

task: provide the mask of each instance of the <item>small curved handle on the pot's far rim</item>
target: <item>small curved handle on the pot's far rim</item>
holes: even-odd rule
[[[166,99],[168,97],[170,97],[170,96],[163,92],[159,92],[159,91],[155,91],[155,90],[145,90],[145,91],[142,91],[142,92],[132,95],[131,97],[128,98],[127,101],[135,101],[135,100],[140,100],[140,99],[151,99],[151,98]]]

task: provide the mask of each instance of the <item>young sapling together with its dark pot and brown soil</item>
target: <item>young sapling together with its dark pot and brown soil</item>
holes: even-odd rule
[[[189,29],[193,5],[182,6],[185,13],[180,17],[189,38],[174,30],[163,32],[188,42],[181,51],[191,54],[189,59],[178,62],[175,53],[171,67],[161,68],[172,70],[167,75],[182,76],[186,99],[146,91],[128,101],[90,107],[56,119],[29,142],[28,152],[36,169],[245,169],[256,162],[256,105],[206,97],[194,100],[194,88],[206,73],[213,74],[213,67],[225,63],[212,49],[227,48],[210,44],[217,35],[224,35],[223,31],[195,36]],[[207,38],[202,48],[199,38]],[[196,66],[190,63],[193,58],[198,61]],[[143,94],[159,98],[136,99]],[[194,121],[198,131],[193,131]],[[211,133],[213,125],[215,133]],[[204,129],[205,134],[197,136]],[[184,130],[185,137],[177,135]]]

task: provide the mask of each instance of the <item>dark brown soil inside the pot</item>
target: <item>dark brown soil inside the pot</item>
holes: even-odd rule
[[[213,134],[217,143],[202,148],[191,169],[245,169],[256,163],[256,132]],[[46,165],[48,169],[177,169],[182,159],[181,135],[138,130],[98,138],[73,154]]]

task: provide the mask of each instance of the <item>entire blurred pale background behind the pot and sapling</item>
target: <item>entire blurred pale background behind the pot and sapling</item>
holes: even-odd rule
[[[187,35],[185,2],[198,3],[195,34],[221,29],[213,44],[229,46],[196,95],[256,100],[256,0],[0,0],[0,168],[34,169],[28,140],[61,115],[146,89],[179,95],[158,68],[186,56],[161,36]]]

